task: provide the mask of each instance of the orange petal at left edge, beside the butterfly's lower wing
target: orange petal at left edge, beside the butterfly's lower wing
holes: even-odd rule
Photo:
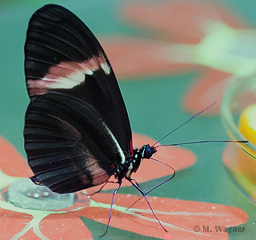
[[[0,169],[9,176],[27,178],[33,175],[22,154],[0,136]]]

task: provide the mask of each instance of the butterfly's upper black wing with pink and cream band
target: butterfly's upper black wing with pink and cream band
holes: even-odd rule
[[[80,99],[104,119],[124,153],[132,154],[130,122],[110,62],[69,10],[46,5],[34,13],[26,34],[25,74],[32,101],[50,92]]]

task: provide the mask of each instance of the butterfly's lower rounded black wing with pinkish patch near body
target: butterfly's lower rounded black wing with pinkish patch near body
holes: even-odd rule
[[[44,94],[30,103],[24,138],[35,178],[62,194],[106,182],[120,155],[95,110],[66,94]]]

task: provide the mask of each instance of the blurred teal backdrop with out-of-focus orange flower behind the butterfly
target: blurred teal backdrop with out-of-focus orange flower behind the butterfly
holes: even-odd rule
[[[102,43],[134,132],[162,138],[217,101],[162,144],[229,138],[219,106],[230,78],[249,77],[256,70],[255,1],[0,0],[0,135],[25,158],[22,131],[29,98],[23,46],[31,15],[46,3],[74,12]],[[228,176],[222,163],[225,146],[186,146],[197,163],[154,194],[236,206],[249,220],[242,225],[246,233],[229,238],[253,239],[256,207]]]

